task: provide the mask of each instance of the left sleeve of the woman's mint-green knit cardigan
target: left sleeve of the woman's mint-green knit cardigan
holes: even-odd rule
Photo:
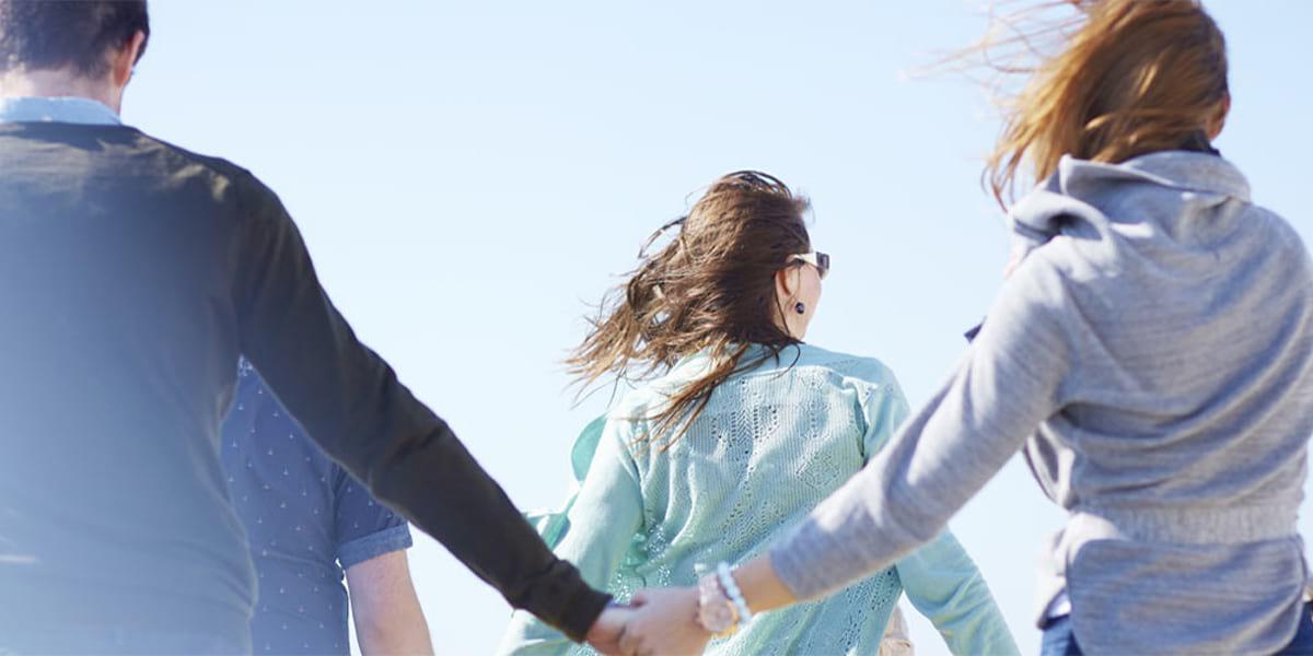
[[[579,495],[570,506],[557,555],[579,567],[591,585],[605,588],[620,569],[642,526],[643,501],[633,459],[625,453],[620,424],[608,421]],[[498,653],[562,653],[569,643],[527,613],[511,618]]]

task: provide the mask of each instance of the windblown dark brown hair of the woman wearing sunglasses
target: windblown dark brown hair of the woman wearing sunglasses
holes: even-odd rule
[[[765,173],[742,171],[713,182],[687,216],[647,240],[638,268],[603,299],[588,336],[566,361],[576,382],[588,387],[608,374],[617,382],[649,380],[681,357],[709,350],[712,369],[643,417],[664,436],[659,447],[670,447],[683,434],[676,426],[697,419],[726,378],[797,344],[779,327],[784,308],[775,274],[790,266],[790,256],[810,251],[807,207],[806,198]],[[675,232],[670,243],[649,255],[667,232]],[[752,344],[765,349],[746,358]],[[656,442],[654,434],[639,441]]]

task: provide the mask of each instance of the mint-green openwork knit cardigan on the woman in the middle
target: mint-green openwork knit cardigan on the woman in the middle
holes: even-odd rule
[[[559,541],[558,555],[618,600],[645,586],[693,585],[722,560],[764,552],[855,474],[907,412],[878,361],[804,345],[722,383],[668,450],[634,443],[650,428],[646,417],[709,362],[706,354],[685,358],[586,430],[574,454],[576,474],[587,472],[578,496],[565,516],[544,523],[549,542]],[[709,653],[874,653],[903,592],[955,653],[1016,652],[974,563],[945,531],[830,600],[754,619]],[[523,613],[502,644],[503,653],[570,649]]]

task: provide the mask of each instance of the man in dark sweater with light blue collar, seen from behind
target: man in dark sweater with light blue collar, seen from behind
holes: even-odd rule
[[[613,648],[625,611],[356,340],[278,198],[119,123],[147,29],[140,1],[0,0],[0,652],[252,649],[218,449],[240,354],[512,606]]]

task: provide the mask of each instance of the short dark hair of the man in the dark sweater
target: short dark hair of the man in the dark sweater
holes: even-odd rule
[[[0,0],[0,72],[101,77],[137,31],[151,33],[146,0]]]

